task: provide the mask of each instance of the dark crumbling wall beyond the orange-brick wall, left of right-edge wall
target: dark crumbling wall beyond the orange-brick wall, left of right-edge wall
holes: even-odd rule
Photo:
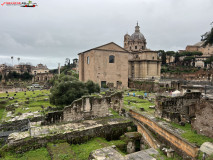
[[[178,97],[157,96],[155,116],[176,123],[189,123],[195,117],[195,105],[200,97],[200,92],[185,93]]]

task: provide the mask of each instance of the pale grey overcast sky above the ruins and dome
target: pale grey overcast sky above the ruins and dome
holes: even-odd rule
[[[0,63],[12,63],[14,56],[14,64],[20,57],[20,62],[54,68],[99,45],[123,47],[124,34],[131,35],[137,21],[148,48],[177,51],[200,41],[213,21],[213,0],[33,2],[38,6],[0,6]]]

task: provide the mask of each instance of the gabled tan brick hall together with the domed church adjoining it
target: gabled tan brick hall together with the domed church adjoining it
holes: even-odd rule
[[[124,48],[111,42],[79,53],[79,79],[92,80],[101,87],[128,87],[128,80],[159,79],[161,61],[146,48],[138,24],[124,36]]]

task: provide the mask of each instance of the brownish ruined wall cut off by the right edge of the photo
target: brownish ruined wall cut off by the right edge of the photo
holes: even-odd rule
[[[197,133],[213,138],[213,101],[201,99],[195,105],[195,117],[192,128]]]

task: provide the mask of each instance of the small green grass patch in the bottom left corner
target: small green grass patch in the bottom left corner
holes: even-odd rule
[[[6,153],[3,160],[51,160],[51,158],[46,148],[40,148],[24,154]]]

